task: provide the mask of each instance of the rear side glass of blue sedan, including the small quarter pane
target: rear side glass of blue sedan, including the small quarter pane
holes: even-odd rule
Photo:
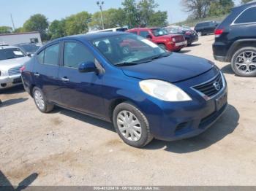
[[[57,66],[59,65],[59,43],[45,48],[37,55],[39,63]]]

